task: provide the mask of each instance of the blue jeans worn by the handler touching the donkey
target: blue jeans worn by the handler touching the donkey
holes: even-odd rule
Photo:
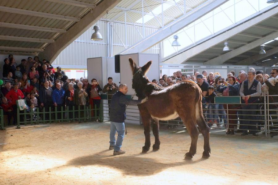
[[[117,141],[115,138],[116,131],[118,132]],[[114,146],[114,151],[119,151],[124,140],[124,122],[117,123],[110,121],[110,146]]]

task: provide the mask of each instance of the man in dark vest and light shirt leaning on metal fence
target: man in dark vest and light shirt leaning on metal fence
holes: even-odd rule
[[[256,133],[256,109],[258,102],[258,96],[261,95],[261,84],[255,79],[255,71],[248,71],[247,80],[242,82],[239,90],[239,95],[242,97],[246,105],[242,106],[243,113],[243,125],[242,125],[242,136],[248,135],[249,133],[253,136],[258,136]],[[253,116],[254,115],[254,116]],[[251,121],[250,121],[251,120]]]

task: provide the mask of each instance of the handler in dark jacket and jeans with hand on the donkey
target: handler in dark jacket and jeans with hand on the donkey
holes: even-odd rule
[[[125,95],[128,92],[126,84],[120,84],[119,91],[117,91],[111,99],[110,104],[110,146],[109,150],[113,150],[113,155],[124,154],[125,151],[120,150],[124,140],[124,120],[126,118],[126,105],[137,105],[148,100],[145,97],[143,100],[130,100]],[[115,138],[116,131],[118,132],[117,141]]]

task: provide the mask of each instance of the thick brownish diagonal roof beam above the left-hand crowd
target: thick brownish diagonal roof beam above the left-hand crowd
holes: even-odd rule
[[[103,0],[91,13],[86,14],[78,23],[74,24],[66,33],[58,37],[54,43],[48,44],[43,52],[39,53],[40,58],[49,60],[51,63],[70,43],[77,39],[82,33],[93,26],[101,19],[106,11],[111,10],[121,0]]]

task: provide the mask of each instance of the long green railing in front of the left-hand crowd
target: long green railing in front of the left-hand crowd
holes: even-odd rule
[[[76,109],[77,107],[77,109]],[[81,109],[83,107],[83,109]],[[99,110],[99,116],[97,115],[97,110]],[[94,116],[91,115],[91,111],[94,111]],[[82,116],[83,112],[83,116]],[[65,118],[65,114],[68,114],[68,116]],[[70,118],[70,114],[72,114],[72,118]],[[43,108],[42,112],[34,112],[32,109],[30,109],[30,112],[27,112],[26,109],[23,111],[17,111],[17,129],[20,129],[20,125],[24,124],[46,124],[46,123],[52,123],[52,122],[70,122],[70,121],[92,121],[92,119],[99,119],[100,121],[103,121],[103,105],[100,104],[99,109],[97,109],[96,105],[94,109],[91,108],[91,105],[78,105],[73,106],[72,110],[65,109],[64,107],[61,107],[61,110],[58,111],[57,107],[54,108],[54,110],[49,107],[48,112],[45,111],[45,108]],[[46,119],[48,117],[48,119]]]

